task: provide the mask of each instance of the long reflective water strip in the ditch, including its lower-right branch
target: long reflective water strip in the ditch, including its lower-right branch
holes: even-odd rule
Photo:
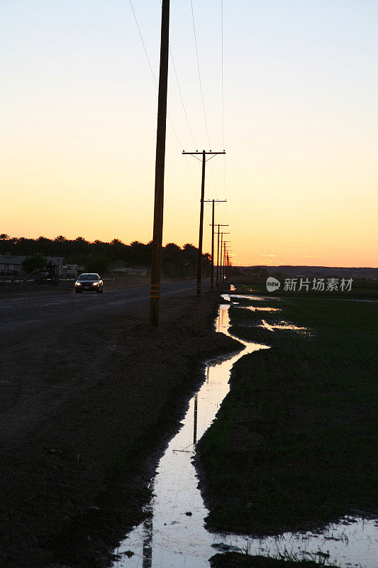
[[[232,299],[233,296],[226,297],[226,300]],[[229,303],[219,307],[216,331],[230,336],[229,307]],[[145,506],[148,516],[114,551],[118,560],[113,568],[209,568],[209,558],[226,550],[272,556],[287,550],[304,558],[313,555],[325,559],[325,555],[329,555],[329,562],[338,562],[341,567],[377,567],[377,522],[374,520],[345,518],[329,525],[321,534],[285,533],[264,539],[218,534],[204,528],[208,510],[191,463],[195,444],[211,425],[228,393],[228,379],[235,361],[252,351],[269,349],[266,345],[238,341],[242,351],[206,365],[205,381],[190,400],[182,427],[169,442],[151,482],[153,496]]]

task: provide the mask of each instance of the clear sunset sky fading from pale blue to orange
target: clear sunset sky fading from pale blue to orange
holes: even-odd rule
[[[182,151],[225,148],[206,200],[235,265],[377,267],[378,2],[223,0],[223,66],[222,1],[192,4],[204,105],[171,0],[164,244],[198,246]],[[133,7],[157,80],[160,0]],[[0,38],[0,232],[150,241],[157,87],[130,0],[2,0]]]

